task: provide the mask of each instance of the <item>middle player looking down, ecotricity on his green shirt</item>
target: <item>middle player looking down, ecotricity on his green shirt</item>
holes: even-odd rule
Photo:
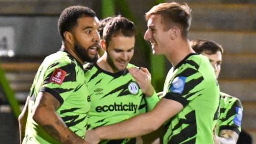
[[[97,62],[86,63],[84,66],[91,100],[88,114],[89,129],[114,124],[145,113],[153,109],[159,101],[155,92],[147,93],[148,85],[135,82],[127,70],[129,67],[135,67],[129,63],[134,54],[134,45],[134,23],[124,17],[111,18],[103,29],[101,39],[101,47],[105,53]],[[147,78],[150,82],[150,77]],[[101,143],[136,141],[133,138]]]

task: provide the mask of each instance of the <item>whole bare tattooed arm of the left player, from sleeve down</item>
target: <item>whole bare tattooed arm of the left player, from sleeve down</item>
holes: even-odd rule
[[[61,117],[56,112],[60,107],[60,103],[50,93],[39,93],[34,107],[34,121],[40,125],[50,137],[61,143],[87,143],[72,132],[62,121]]]

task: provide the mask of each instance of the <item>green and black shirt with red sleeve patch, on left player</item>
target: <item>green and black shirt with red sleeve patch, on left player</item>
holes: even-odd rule
[[[29,113],[23,143],[60,143],[44,132],[32,118],[38,92],[48,92],[60,102],[57,113],[71,131],[84,138],[90,97],[83,66],[68,52],[46,57],[30,89]]]

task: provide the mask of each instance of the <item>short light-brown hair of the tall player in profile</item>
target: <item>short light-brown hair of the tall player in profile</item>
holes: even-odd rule
[[[162,22],[164,22],[164,30],[169,30],[173,25],[177,25],[181,29],[181,36],[187,38],[192,19],[190,12],[191,9],[187,4],[161,3],[153,6],[145,17],[148,21],[151,15],[159,14],[162,16]]]

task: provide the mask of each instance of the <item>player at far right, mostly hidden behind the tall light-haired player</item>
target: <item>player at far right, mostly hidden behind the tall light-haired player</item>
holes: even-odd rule
[[[193,50],[209,58],[217,78],[222,63],[222,46],[214,41],[195,39],[190,41]],[[215,126],[215,143],[236,143],[241,132],[243,107],[239,99],[220,92],[220,116]]]

